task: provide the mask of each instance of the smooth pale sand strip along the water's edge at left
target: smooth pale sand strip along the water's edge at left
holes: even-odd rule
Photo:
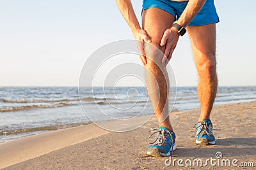
[[[120,120],[104,120],[97,122],[97,125],[92,122],[86,125],[43,132],[0,143],[0,169],[111,132],[99,127],[99,125],[112,128],[113,131],[125,131],[125,129],[140,125],[148,117],[152,117],[152,115],[137,117],[138,121],[135,124],[131,121],[131,124],[124,124]],[[120,124],[124,124],[122,129],[119,128]],[[88,134],[90,135],[88,136]],[[41,147],[42,145],[44,148]]]

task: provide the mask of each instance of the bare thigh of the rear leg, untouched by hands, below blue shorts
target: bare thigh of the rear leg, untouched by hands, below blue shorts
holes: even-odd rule
[[[188,33],[197,69],[205,63],[215,65],[216,24],[188,26]]]

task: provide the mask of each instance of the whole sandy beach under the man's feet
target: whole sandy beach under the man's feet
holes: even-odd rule
[[[195,144],[193,125],[197,122],[198,109],[171,113],[177,150],[172,153],[171,162],[176,161],[170,165],[170,157],[154,158],[146,154],[147,138],[157,129],[156,118],[152,117],[147,124],[129,132],[109,132],[89,124],[2,143],[0,168],[198,169],[196,164],[193,166],[193,160],[200,159],[202,169],[253,169],[256,166],[255,111],[256,101],[214,106],[211,120],[217,140],[213,146]],[[118,124],[113,120],[105,123]],[[222,157],[216,157],[216,153]],[[207,159],[215,159],[215,166],[214,161],[210,164]]]

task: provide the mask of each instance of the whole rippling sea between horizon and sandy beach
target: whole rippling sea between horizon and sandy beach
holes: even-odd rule
[[[200,108],[196,87],[170,94],[172,111]],[[214,105],[248,101],[256,101],[256,87],[218,87]],[[138,113],[153,113],[145,87],[0,87],[0,143]]]

